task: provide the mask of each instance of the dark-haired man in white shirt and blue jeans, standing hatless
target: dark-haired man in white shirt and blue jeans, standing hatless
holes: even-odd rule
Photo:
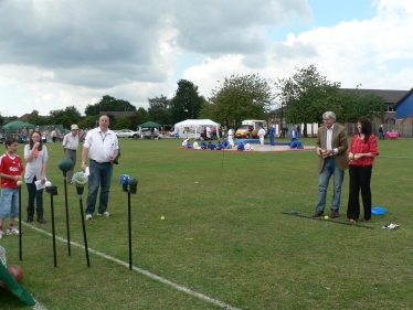
[[[110,216],[107,212],[113,162],[118,154],[118,140],[116,133],[109,128],[109,117],[99,117],[99,127],[89,130],[86,135],[82,151],[82,171],[86,170],[86,159],[89,157],[88,193],[86,205],[86,220],[93,220],[97,191],[100,185],[99,206],[97,215]]]

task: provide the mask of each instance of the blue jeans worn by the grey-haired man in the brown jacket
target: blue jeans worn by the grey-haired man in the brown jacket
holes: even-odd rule
[[[333,190],[332,190],[332,201],[331,211],[339,212],[340,201],[341,201],[341,184],[345,180],[345,171],[342,171],[333,158],[327,158],[325,160],[322,170],[318,175],[318,204],[316,210],[324,214],[324,209],[326,206],[326,196],[328,183],[333,175]]]

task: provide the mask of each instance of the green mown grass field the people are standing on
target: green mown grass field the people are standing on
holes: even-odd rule
[[[68,256],[67,243],[57,239],[54,267],[45,194],[47,224],[23,222],[23,260],[17,236],[0,242],[8,264],[23,267],[24,288],[47,309],[413,308],[412,140],[379,141],[373,206],[384,206],[388,213],[373,216],[369,226],[374,229],[283,214],[314,213],[315,151],[195,151],[177,148],[180,143],[120,140],[120,164],[115,167],[109,199],[113,216],[86,222],[91,268],[81,247],[80,202],[73,185],[67,191],[71,240],[76,244]],[[47,148],[47,178],[59,185],[56,235],[66,238],[63,177],[57,169],[63,153],[60,143]],[[77,161],[80,168],[80,152]],[[128,202],[118,183],[123,173],[139,180],[131,213],[133,259],[140,270],[116,260],[128,263]],[[346,173],[338,221],[346,221],[348,181]],[[24,185],[23,218],[27,196]],[[396,223],[400,229],[382,229],[386,223]],[[0,308],[27,307],[0,289]]]

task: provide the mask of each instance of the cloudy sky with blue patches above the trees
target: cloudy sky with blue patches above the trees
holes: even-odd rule
[[[0,113],[41,115],[103,96],[148,108],[231,74],[289,77],[315,64],[342,87],[410,89],[404,0],[0,0]],[[236,4],[236,6],[234,6]]]

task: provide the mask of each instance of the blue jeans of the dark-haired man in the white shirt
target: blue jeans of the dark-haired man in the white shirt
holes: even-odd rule
[[[93,214],[96,207],[97,191],[100,185],[98,213],[104,213],[107,210],[107,202],[109,201],[110,181],[114,171],[112,162],[98,163],[91,159],[88,177],[88,193],[86,214]]]

